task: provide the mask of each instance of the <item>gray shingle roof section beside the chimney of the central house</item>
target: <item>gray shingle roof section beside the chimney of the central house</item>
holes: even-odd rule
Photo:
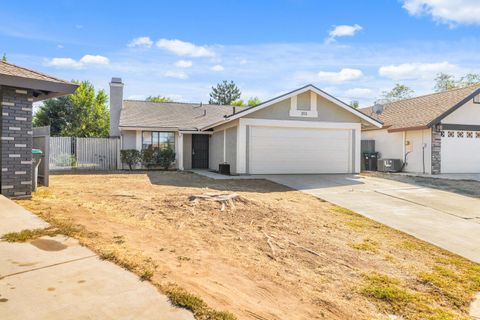
[[[197,130],[233,113],[232,106],[124,100],[120,127]],[[236,107],[240,111],[243,107]]]

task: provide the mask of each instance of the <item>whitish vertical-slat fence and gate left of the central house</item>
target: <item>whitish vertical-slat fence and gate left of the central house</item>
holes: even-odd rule
[[[52,171],[117,170],[120,168],[119,138],[50,138]]]

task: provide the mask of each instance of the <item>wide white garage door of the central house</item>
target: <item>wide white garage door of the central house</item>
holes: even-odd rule
[[[250,127],[249,172],[352,172],[351,130]]]

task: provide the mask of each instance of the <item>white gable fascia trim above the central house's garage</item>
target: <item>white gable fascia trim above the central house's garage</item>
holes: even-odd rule
[[[274,99],[272,99],[272,100],[270,100],[270,101],[267,101],[267,102],[265,102],[265,103],[263,103],[263,104],[260,104],[260,105],[258,105],[258,106],[256,106],[256,107],[250,108],[250,109],[248,109],[248,110],[246,110],[246,111],[240,112],[240,113],[238,113],[238,114],[236,114],[236,115],[233,115],[233,116],[231,116],[231,117],[229,117],[229,118],[225,118],[225,120],[222,120],[222,121],[219,121],[219,122],[217,122],[217,123],[214,123],[214,124],[211,124],[211,125],[209,125],[209,126],[206,126],[206,127],[204,127],[204,128],[201,128],[201,130],[207,130],[207,129],[210,129],[210,128],[219,126],[219,125],[221,125],[221,124],[223,124],[223,123],[227,123],[227,122],[230,122],[230,121],[232,121],[232,120],[241,118],[241,117],[243,117],[243,116],[245,116],[245,115],[247,115],[247,114],[250,114],[250,113],[255,112],[255,111],[258,111],[258,110],[262,110],[262,109],[264,109],[264,108],[267,108],[267,107],[271,106],[272,104],[275,104],[275,103],[277,103],[277,102],[283,101],[283,100],[285,100],[285,99],[289,99],[289,98],[291,98],[291,97],[293,97],[293,96],[302,94],[302,93],[307,92],[307,91],[309,91],[309,90],[315,92],[315,93],[318,94],[319,96],[327,99],[328,101],[336,104],[337,106],[339,106],[339,107],[347,110],[348,112],[353,113],[353,114],[356,115],[357,117],[359,117],[359,118],[361,118],[361,119],[369,122],[370,124],[376,126],[377,128],[381,128],[381,127],[383,126],[383,124],[382,124],[381,122],[378,122],[378,121],[370,118],[369,116],[363,114],[362,112],[358,111],[357,109],[354,109],[354,108],[350,107],[350,106],[349,106],[348,104],[346,104],[345,102],[342,102],[341,100],[338,100],[338,99],[332,97],[331,95],[327,94],[326,92],[318,89],[317,87],[315,87],[315,86],[313,86],[313,85],[308,85],[308,86],[305,86],[305,87],[300,88],[300,89],[298,89],[298,90],[292,91],[292,92],[290,92],[290,93],[288,93],[288,94],[281,95],[281,96],[279,96],[278,98],[274,98]]]

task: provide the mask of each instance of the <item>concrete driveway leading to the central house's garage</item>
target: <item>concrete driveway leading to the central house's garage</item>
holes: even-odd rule
[[[480,263],[480,199],[357,175],[268,175],[265,178]]]

